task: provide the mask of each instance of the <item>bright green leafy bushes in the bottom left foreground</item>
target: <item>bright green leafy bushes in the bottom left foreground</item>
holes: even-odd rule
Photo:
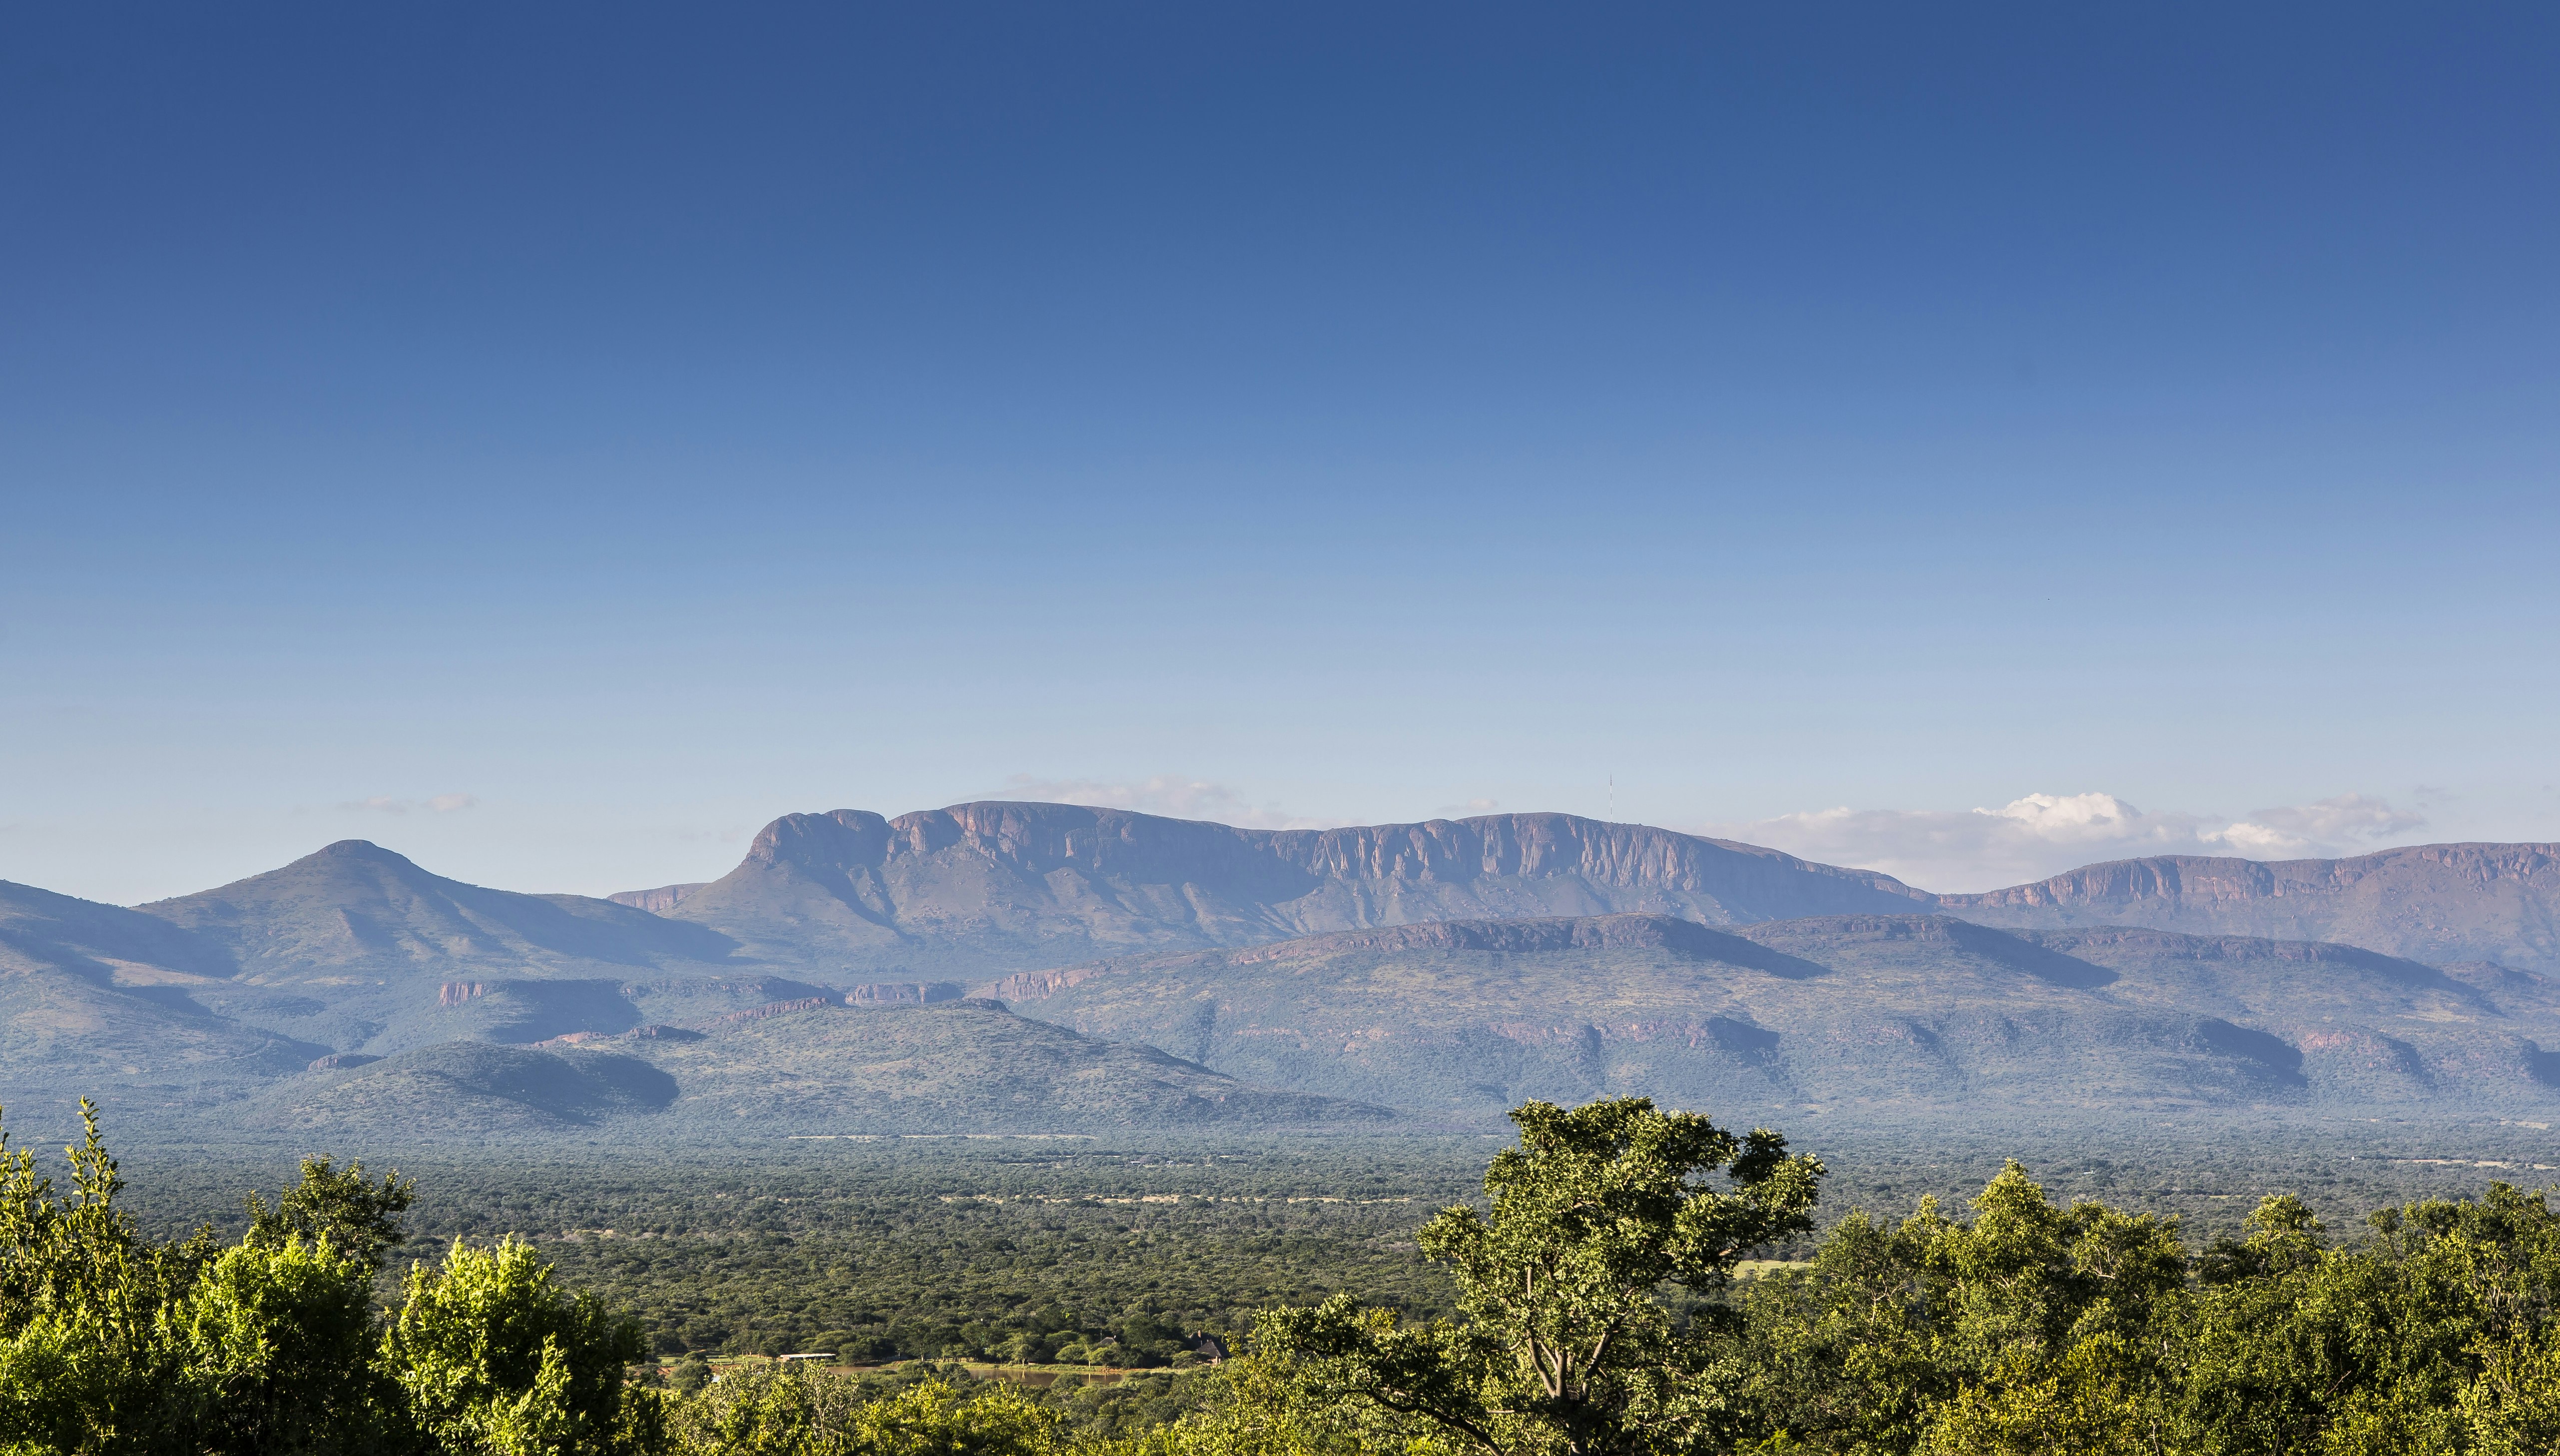
[[[138,1233],[97,1121],[56,1198],[0,1136],[0,1448],[10,1453],[607,1456],[666,1448],[625,1384],[640,1333],[522,1244],[453,1246],[384,1320],[371,1287],[410,1187],[302,1164],[248,1231]]]

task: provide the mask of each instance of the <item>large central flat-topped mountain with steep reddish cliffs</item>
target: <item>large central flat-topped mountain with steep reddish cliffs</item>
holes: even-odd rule
[[[1748,924],[1930,901],[1871,870],[1569,814],[1234,829],[1070,803],[786,814],[724,878],[668,898],[666,916],[776,965],[922,970],[1446,919]]]

